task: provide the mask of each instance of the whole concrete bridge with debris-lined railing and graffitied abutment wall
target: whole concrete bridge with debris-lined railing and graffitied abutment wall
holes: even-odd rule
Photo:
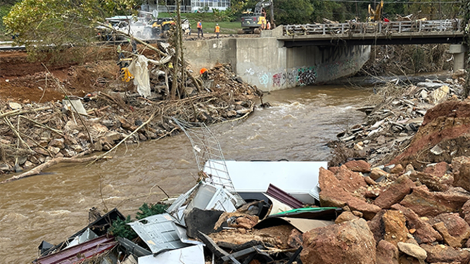
[[[259,38],[186,41],[193,70],[231,63],[244,81],[263,91],[321,84],[355,74],[369,60],[371,45],[452,44],[455,70],[464,67],[459,20],[288,25]]]

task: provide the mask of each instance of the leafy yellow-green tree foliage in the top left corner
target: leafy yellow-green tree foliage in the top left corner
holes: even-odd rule
[[[80,45],[110,15],[134,12],[136,0],[23,0],[3,18],[6,32],[27,48]],[[40,43],[40,45],[38,45]]]

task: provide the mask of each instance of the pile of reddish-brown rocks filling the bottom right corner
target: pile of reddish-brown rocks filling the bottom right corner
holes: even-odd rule
[[[370,167],[362,163],[320,169],[320,204],[345,212],[303,235],[303,263],[469,263],[468,157],[421,172],[411,164],[357,172]]]

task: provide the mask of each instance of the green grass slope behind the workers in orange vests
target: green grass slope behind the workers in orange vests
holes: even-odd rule
[[[173,13],[158,13],[158,18],[171,18]],[[214,13],[182,13],[182,18],[187,18],[191,24],[192,33],[198,34],[196,23],[198,20],[203,22],[204,33],[214,33],[215,24],[219,24],[220,34],[236,34],[241,29],[241,22],[219,21]]]

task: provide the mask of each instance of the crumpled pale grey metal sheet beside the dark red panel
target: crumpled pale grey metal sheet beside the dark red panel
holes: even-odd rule
[[[130,225],[137,235],[146,242],[154,254],[188,246],[182,242],[177,226],[168,213],[149,216],[127,225]]]

